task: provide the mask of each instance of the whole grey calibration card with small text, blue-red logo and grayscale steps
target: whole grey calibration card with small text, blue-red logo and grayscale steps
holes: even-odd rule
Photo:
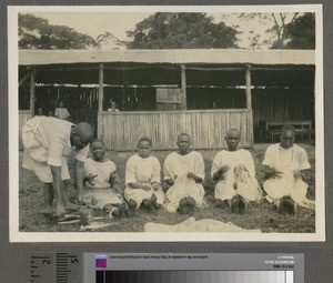
[[[304,254],[84,253],[83,283],[304,283]]]

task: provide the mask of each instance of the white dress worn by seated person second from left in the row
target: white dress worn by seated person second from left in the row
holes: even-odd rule
[[[133,200],[137,202],[137,209],[141,205],[143,200],[150,200],[154,194],[157,196],[157,202],[163,204],[164,192],[162,188],[154,190],[151,188],[149,191],[142,189],[131,189],[130,183],[148,184],[151,185],[152,182],[161,184],[161,164],[160,161],[154,156],[149,156],[143,159],[138,154],[131,156],[127,162],[125,169],[125,199]]]

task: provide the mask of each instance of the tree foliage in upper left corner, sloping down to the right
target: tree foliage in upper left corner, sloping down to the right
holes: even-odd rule
[[[32,14],[19,14],[20,49],[89,49],[99,43],[90,36],[64,26],[49,24]]]

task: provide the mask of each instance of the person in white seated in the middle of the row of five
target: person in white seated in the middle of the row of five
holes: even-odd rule
[[[205,204],[204,189],[204,163],[202,155],[190,149],[191,137],[186,133],[178,135],[178,151],[169,154],[164,161],[164,181],[170,186],[165,195],[169,212],[182,214],[193,212],[195,206]]]

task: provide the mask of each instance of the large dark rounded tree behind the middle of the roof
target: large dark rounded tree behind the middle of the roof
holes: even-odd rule
[[[158,12],[127,33],[130,49],[238,48],[238,31],[205,13]]]

